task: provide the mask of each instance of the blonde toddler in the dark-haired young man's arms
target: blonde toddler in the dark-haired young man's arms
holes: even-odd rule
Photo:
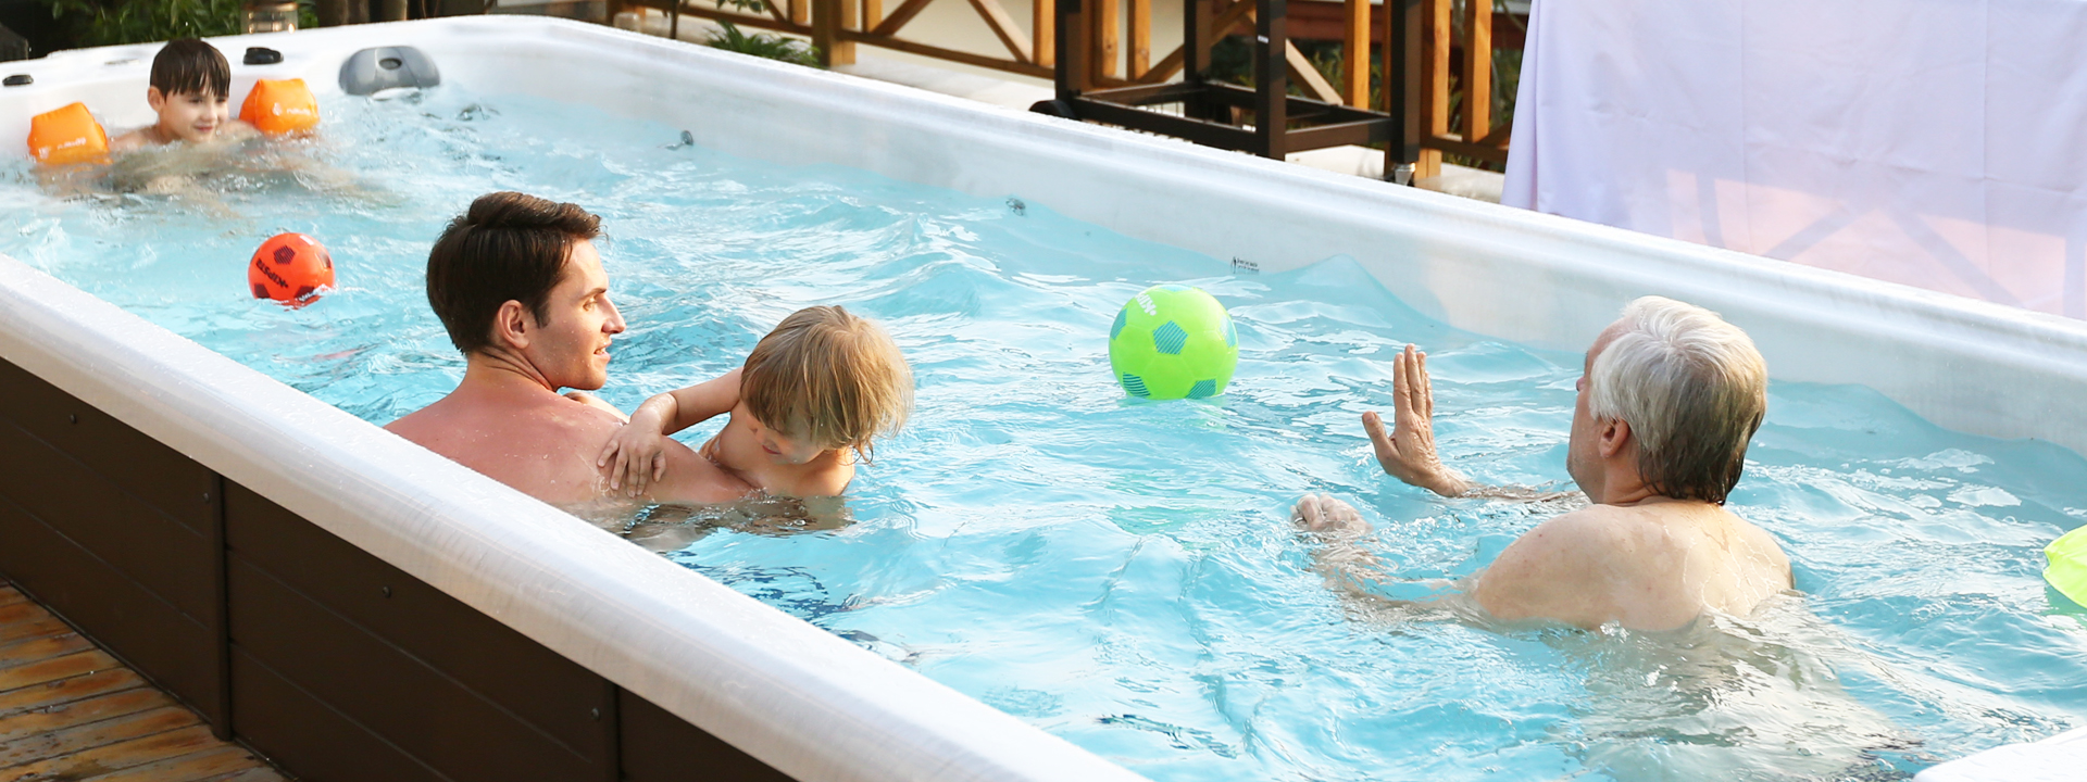
[[[659,442],[730,413],[703,457],[774,496],[839,496],[872,438],[912,409],[912,369],[885,329],[839,307],[808,307],[768,332],[747,363],[647,398],[601,448],[611,490],[645,492],[666,475]]]

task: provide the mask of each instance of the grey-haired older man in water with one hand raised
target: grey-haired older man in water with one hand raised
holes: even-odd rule
[[[1768,411],[1768,367],[1718,313],[1645,296],[1586,352],[1565,471],[1584,509],[1538,523],[1469,586],[1496,619],[1672,630],[1705,611],[1753,613],[1791,590],[1791,561],[1724,500]],[[1363,413],[1386,473],[1442,496],[1484,494],[1434,446],[1428,355],[1411,344],[1392,373],[1394,427]],[[1369,523],[1342,500],[1304,496],[1294,521],[1319,538],[1329,580],[1367,578]]]

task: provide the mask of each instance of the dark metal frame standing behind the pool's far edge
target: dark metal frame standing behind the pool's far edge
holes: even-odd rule
[[[1384,171],[1390,177],[1402,152],[1402,144],[1396,144],[1394,136],[1407,125],[1396,115],[1407,108],[1405,100],[1388,102],[1394,111],[1394,115],[1388,115],[1290,96],[1288,31],[1284,23],[1288,0],[1252,0],[1256,2],[1254,90],[1206,79],[1208,42],[1204,42],[1206,35],[1202,33],[1202,0],[1183,2],[1181,81],[1085,90],[1092,83],[1087,75],[1092,65],[1081,56],[1085,52],[1081,42],[1087,33],[1085,6],[1083,0],[1058,0],[1058,98],[1037,102],[1031,111],[1175,136],[1204,146],[1252,152],[1277,161],[1290,152],[1384,142]],[[1392,63],[1392,35],[1386,35],[1386,63]],[[1396,81],[1396,77],[1386,79],[1388,85]],[[1175,117],[1144,108],[1169,102],[1179,102],[1183,115]],[[1250,108],[1254,113],[1254,127],[1231,125],[1231,108]],[[1290,127],[1292,123],[1302,123],[1304,127]]]

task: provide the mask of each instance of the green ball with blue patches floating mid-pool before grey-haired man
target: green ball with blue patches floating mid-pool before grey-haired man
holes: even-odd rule
[[[1108,327],[1108,367],[1137,398],[1206,398],[1225,392],[1240,365],[1240,332],[1225,304],[1190,286],[1152,286],[1131,296]]]

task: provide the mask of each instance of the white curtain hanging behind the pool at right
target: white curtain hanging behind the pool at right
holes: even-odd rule
[[[1503,202],[2087,317],[2087,0],[1538,0]]]

